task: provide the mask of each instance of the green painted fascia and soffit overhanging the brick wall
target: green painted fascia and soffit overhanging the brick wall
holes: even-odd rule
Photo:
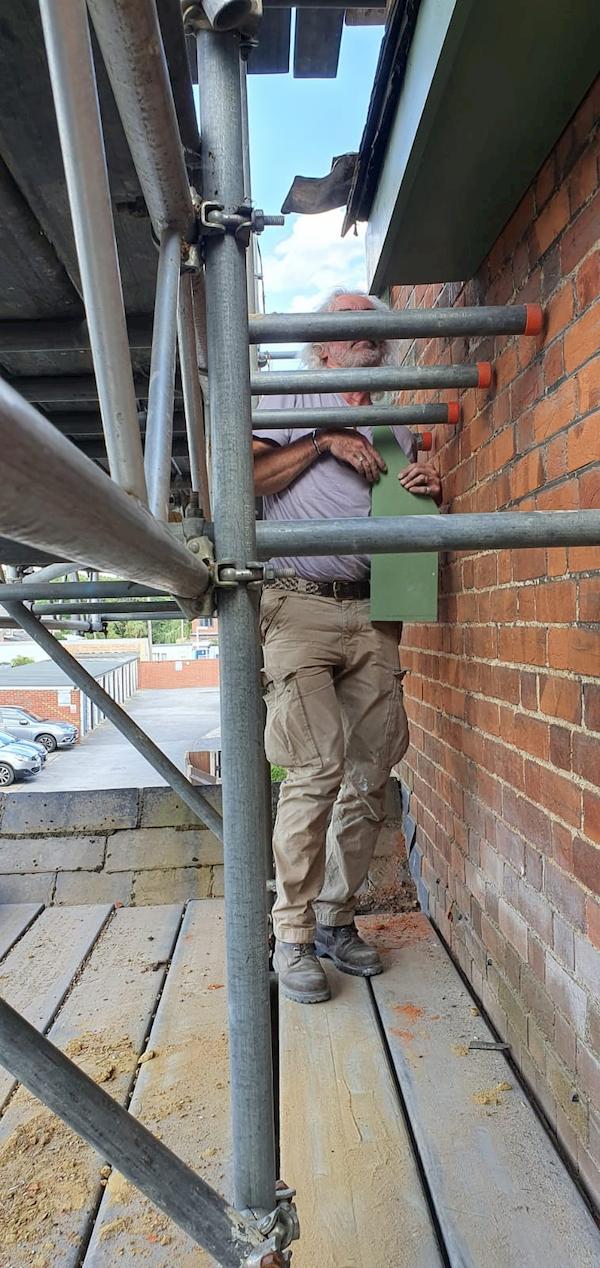
[[[422,0],[369,287],[472,278],[600,68],[599,0]]]

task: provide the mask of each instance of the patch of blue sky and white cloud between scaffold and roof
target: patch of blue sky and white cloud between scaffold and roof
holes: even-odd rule
[[[279,212],[296,175],[323,176],[335,155],[358,150],[383,27],[344,27],[335,80],[249,75],[252,199]],[[340,284],[365,285],[362,235],[340,237],[342,210],[288,216],[260,238],[266,308],[315,308]]]

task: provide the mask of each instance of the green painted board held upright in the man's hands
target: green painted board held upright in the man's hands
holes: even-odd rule
[[[373,444],[387,463],[373,484],[373,515],[438,515],[433,497],[410,493],[398,473],[410,459],[389,427],[373,435]],[[438,553],[373,555],[370,563],[370,618],[374,621],[438,620]]]

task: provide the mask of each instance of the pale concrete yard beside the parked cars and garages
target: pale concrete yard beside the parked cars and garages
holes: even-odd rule
[[[124,708],[180,770],[188,749],[219,748],[218,690],[138,691]],[[8,791],[60,792],[164,784],[115,727],[103,721],[75,748],[51,753],[37,779],[13,784]]]

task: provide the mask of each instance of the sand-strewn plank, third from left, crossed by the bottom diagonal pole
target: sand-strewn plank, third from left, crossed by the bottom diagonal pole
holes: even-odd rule
[[[49,1032],[121,1103],[180,922],[175,904],[117,910]],[[0,1262],[75,1268],[103,1193],[101,1167],[91,1146],[18,1088],[0,1121]]]

